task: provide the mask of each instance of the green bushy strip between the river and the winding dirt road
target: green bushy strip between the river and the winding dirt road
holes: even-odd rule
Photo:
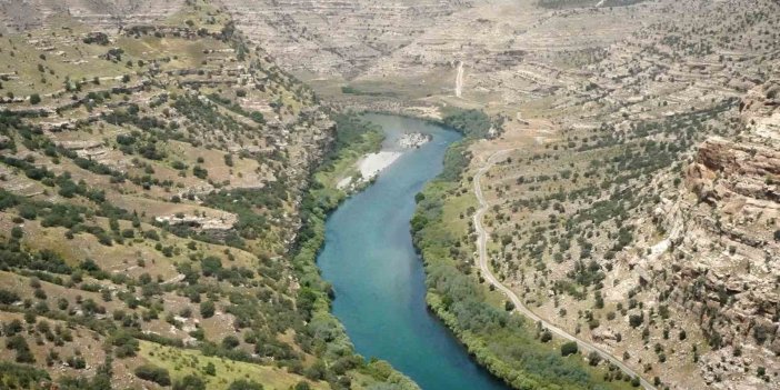
[[[466,134],[484,134],[486,123],[468,114],[446,121]],[[478,129],[470,126],[479,124]],[[430,309],[476,360],[517,389],[630,389],[632,378],[612,364],[579,353],[561,356],[564,340],[518,314],[474,268],[473,226],[477,201],[463,179],[470,154],[467,137],[448,151],[443,173],[418,196],[412,219],[414,244],[424,261]],[[590,366],[592,363],[593,366]]]

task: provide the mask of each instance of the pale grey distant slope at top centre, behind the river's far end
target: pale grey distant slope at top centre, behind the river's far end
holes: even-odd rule
[[[220,0],[249,37],[293,72],[354,77],[384,61],[468,0]]]

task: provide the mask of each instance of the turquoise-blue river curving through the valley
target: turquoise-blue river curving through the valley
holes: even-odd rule
[[[384,130],[383,150],[400,150],[397,141],[408,131],[433,139],[407,151],[328,219],[318,264],[336,291],[333,314],[360,354],[389,361],[423,390],[508,389],[428,311],[424,270],[409,231],[414,194],[441,172],[444,151],[460,134],[396,116],[366,119]]]

